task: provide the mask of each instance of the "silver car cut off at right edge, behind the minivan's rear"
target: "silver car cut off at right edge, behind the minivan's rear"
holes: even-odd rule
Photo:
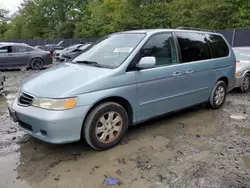
[[[235,87],[245,93],[250,89],[250,47],[235,47],[233,50],[237,60]]]

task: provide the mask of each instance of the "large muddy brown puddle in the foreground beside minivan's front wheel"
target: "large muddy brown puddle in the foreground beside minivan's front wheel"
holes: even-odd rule
[[[63,161],[47,171],[43,170],[44,165],[50,163],[50,160],[55,160],[55,158],[41,157],[38,162],[35,161],[38,158],[36,156],[38,153],[36,153],[33,155],[33,160],[28,160],[26,164],[21,163],[17,170],[22,176],[21,179],[24,179],[33,188],[66,188],[69,185],[70,187],[104,188],[107,187],[104,183],[105,175],[121,180],[123,183],[119,186],[121,188],[128,187],[129,184],[131,184],[130,188],[148,187],[147,178],[155,177],[159,171],[154,165],[162,166],[173,157],[172,151],[165,148],[168,143],[169,139],[165,137],[144,136],[130,141],[129,144],[119,145],[107,151],[96,152],[91,150],[76,161],[67,161],[61,157],[60,159]],[[23,149],[21,147],[21,155],[24,152]],[[39,149],[35,152],[38,151]],[[145,179],[141,178],[141,169],[144,169],[143,176]],[[131,183],[135,178],[137,180]]]

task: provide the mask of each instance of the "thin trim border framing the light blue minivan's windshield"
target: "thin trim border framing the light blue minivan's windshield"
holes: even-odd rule
[[[134,51],[137,49],[137,47],[141,44],[141,42],[143,41],[143,39],[145,39],[145,37],[147,36],[146,33],[122,33],[122,32],[120,32],[120,33],[113,33],[113,34],[110,34],[110,35],[106,35],[106,36],[104,36],[104,37],[101,37],[101,38],[100,38],[99,40],[97,40],[96,42],[90,44],[85,50],[83,50],[83,53],[84,53],[85,51],[89,50],[90,48],[92,48],[94,45],[96,45],[96,44],[100,43],[101,41],[103,41],[105,38],[108,38],[108,37],[111,37],[111,36],[114,36],[114,35],[141,35],[142,38],[141,38],[141,40],[138,42],[138,44],[133,48],[133,50],[130,52],[130,54],[120,63],[119,66],[117,66],[117,67],[111,67],[111,66],[108,66],[108,65],[102,65],[102,64],[100,64],[100,65],[102,65],[102,66],[105,66],[105,68],[109,68],[109,69],[117,69],[117,68],[119,68],[121,65],[123,65],[124,62],[131,56],[131,54],[133,54],[133,52],[134,52]],[[78,56],[77,56],[77,57],[78,57]],[[77,58],[77,57],[76,57],[76,58]],[[74,58],[74,59],[72,60],[72,63],[74,63],[74,60],[75,60],[76,58]]]

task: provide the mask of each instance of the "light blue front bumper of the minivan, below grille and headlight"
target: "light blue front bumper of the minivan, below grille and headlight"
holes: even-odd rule
[[[28,134],[48,143],[63,144],[81,139],[83,120],[89,108],[84,106],[51,111],[33,106],[22,107],[15,99],[10,114]]]

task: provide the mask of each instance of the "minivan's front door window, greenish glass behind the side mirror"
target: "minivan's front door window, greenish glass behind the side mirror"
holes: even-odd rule
[[[156,66],[177,63],[176,48],[171,33],[158,34],[151,37],[141,49],[141,57],[153,56]]]

